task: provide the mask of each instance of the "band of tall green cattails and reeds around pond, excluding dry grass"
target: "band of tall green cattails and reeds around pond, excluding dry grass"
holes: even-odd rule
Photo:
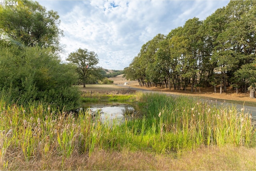
[[[255,146],[251,115],[234,106],[218,108],[187,97],[136,94],[143,117],[121,124],[101,123],[90,111],[66,113],[51,106],[16,104],[0,100],[0,169],[10,163],[74,155],[95,150],[148,151],[179,156],[181,151],[202,145]]]

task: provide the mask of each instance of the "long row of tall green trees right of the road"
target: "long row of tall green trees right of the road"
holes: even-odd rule
[[[126,79],[140,86],[200,91],[232,86],[238,92],[256,89],[256,1],[230,1],[205,20],[192,18],[167,35],[146,42],[124,69]]]

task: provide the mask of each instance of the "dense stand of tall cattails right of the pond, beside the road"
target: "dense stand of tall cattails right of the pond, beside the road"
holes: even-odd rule
[[[157,124],[168,150],[204,145],[254,146],[252,115],[235,106],[217,107],[200,99],[141,95],[148,127]],[[175,149],[175,148],[174,148]]]

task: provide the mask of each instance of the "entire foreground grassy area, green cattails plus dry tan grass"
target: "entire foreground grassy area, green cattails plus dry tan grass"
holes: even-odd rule
[[[89,112],[2,98],[0,170],[256,169],[255,129],[244,110],[160,94],[132,99],[144,117],[108,127]]]

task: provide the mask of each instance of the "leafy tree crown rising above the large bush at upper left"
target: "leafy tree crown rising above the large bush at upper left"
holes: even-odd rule
[[[62,30],[58,13],[41,6],[38,2],[18,1],[15,6],[0,6],[0,34],[25,46],[50,47],[60,50]]]

